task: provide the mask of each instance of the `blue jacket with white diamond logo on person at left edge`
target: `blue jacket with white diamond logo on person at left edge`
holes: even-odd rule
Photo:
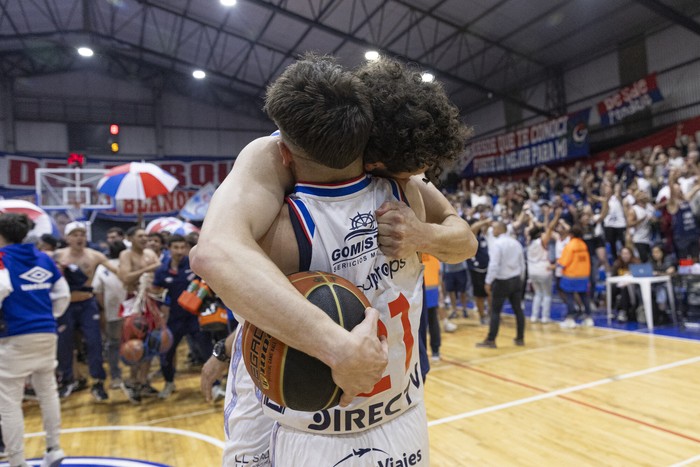
[[[2,302],[6,329],[0,337],[55,333],[56,320],[49,293],[62,277],[56,263],[32,244],[0,248],[0,259],[14,289]]]

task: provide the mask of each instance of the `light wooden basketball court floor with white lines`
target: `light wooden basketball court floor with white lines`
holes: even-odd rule
[[[486,327],[456,323],[426,384],[432,466],[700,465],[699,340],[528,321],[526,346],[516,347],[504,315],[499,348],[477,349]],[[89,391],[71,395],[62,447],[69,456],[220,465],[223,404],[203,401],[198,376],[183,369],[170,399],[140,406],[119,390],[107,404]],[[38,404],[25,403],[25,414],[27,456],[40,457]]]

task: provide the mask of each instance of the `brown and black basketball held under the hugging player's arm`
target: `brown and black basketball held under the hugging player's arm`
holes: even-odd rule
[[[294,287],[348,331],[370,306],[350,281],[326,272],[299,272],[289,277]],[[242,330],[243,360],[257,387],[272,401],[293,410],[315,412],[338,404],[341,390],[331,369],[246,322]]]

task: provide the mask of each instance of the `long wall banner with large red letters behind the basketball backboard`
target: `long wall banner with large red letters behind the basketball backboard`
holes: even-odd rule
[[[89,158],[85,168],[109,169],[128,161]],[[134,221],[141,214],[145,218],[175,216],[187,201],[208,183],[219,185],[233,166],[233,158],[194,158],[151,160],[178,179],[175,191],[146,200],[122,200],[115,209],[101,211],[100,218]],[[56,156],[27,156],[0,152],[0,195],[34,202],[36,177],[39,168],[67,168],[67,159]]]

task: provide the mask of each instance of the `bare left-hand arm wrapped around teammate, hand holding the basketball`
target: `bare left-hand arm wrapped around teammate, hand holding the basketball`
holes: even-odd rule
[[[371,354],[361,361],[365,371],[372,359],[381,367],[376,379],[369,378],[374,379],[372,385],[386,365],[377,350],[376,316],[372,336],[376,343],[374,352],[369,352],[361,348],[365,342],[353,335],[355,331],[348,333],[307,301],[258,244],[291,187],[291,174],[282,164],[275,138],[260,138],[246,146],[212,199],[190,264],[236,315],[329,365],[336,383],[354,395],[366,387],[355,387],[358,378],[351,374],[355,354]]]

